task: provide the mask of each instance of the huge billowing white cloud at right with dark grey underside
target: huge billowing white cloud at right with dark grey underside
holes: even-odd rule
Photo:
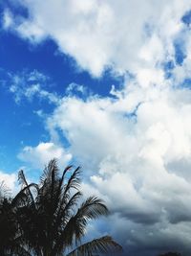
[[[152,253],[191,249],[190,90],[132,82],[112,93],[116,99],[65,97],[47,120],[50,133],[63,131],[84,167],[85,195],[106,200],[115,219],[106,230],[134,255],[151,244]]]

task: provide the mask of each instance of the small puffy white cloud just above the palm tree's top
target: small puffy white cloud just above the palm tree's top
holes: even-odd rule
[[[41,142],[36,147],[25,147],[18,157],[24,162],[31,163],[32,167],[42,169],[53,158],[58,159],[60,165],[66,166],[72,155],[53,142]]]

